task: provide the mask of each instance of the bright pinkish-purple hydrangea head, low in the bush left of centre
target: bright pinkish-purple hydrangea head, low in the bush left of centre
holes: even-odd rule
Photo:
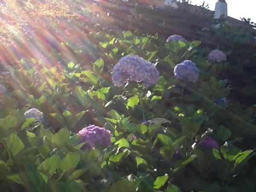
[[[81,142],[86,142],[83,148],[94,148],[96,145],[108,147],[111,145],[110,131],[96,125],[89,125],[78,132]]]

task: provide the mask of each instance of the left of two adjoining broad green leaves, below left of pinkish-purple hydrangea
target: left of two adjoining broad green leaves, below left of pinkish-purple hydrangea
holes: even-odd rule
[[[38,166],[38,171],[40,171],[42,173],[48,172],[49,175],[53,175],[53,173],[57,169],[60,161],[61,160],[60,160],[60,157],[58,156],[58,154],[54,154],[54,155],[52,155],[52,157],[49,157],[47,160],[45,160],[43,163],[41,163]]]

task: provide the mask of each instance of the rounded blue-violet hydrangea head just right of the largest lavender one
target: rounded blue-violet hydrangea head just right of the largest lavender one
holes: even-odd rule
[[[174,75],[176,79],[195,82],[198,80],[199,72],[192,61],[185,60],[175,66]]]

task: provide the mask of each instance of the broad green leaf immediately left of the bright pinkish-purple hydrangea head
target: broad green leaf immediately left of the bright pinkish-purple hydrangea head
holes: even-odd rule
[[[69,141],[70,131],[62,128],[58,133],[52,135],[52,144],[57,148],[62,148]]]

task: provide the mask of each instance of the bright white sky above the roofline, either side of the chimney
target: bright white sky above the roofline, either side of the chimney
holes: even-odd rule
[[[209,9],[214,10],[218,0],[191,0],[192,5],[209,4]],[[240,20],[240,17],[251,18],[256,23],[256,0],[226,0],[227,15]]]

